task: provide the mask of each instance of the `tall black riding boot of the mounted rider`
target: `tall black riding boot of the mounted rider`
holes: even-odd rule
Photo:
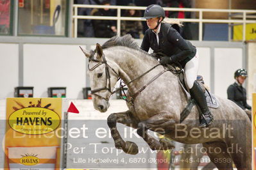
[[[208,127],[214,118],[208,108],[205,94],[203,93],[203,90],[201,89],[200,84],[198,84],[197,81],[194,81],[194,84],[190,89],[190,92],[191,97],[194,98],[194,100],[196,100],[196,103],[198,104],[202,112],[203,119],[201,120],[199,126]]]

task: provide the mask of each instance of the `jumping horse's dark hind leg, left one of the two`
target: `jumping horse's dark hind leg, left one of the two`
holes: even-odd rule
[[[227,151],[227,146],[223,142],[203,143],[203,147],[218,169],[233,169],[232,158]]]

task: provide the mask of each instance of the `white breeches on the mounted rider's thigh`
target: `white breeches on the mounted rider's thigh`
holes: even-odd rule
[[[196,52],[196,56],[187,62],[184,67],[185,80],[189,89],[192,88],[194,81],[196,81],[196,77],[198,76],[198,65],[198,53]]]

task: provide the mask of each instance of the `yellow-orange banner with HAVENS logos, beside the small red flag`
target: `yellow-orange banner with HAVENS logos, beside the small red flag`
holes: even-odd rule
[[[62,98],[7,98],[6,169],[58,169]]]

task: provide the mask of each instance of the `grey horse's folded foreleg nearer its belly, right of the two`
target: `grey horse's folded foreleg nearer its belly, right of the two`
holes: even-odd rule
[[[148,143],[151,150],[170,150],[175,148],[173,141],[166,138],[157,141],[157,139],[148,134],[147,130],[158,132],[158,134],[166,134],[168,130],[171,130],[171,127],[173,127],[174,124],[175,120],[173,120],[173,118],[169,118],[169,114],[167,112],[162,112],[146,121],[140,122],[137,134],[139,134],[144,141]]]

